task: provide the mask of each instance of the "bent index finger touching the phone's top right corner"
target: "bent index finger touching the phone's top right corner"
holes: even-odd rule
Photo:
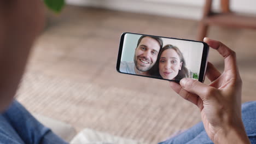
[[[236,53],[234,51],[217,40],[204,38],[203,41],[213,49],[216,49],[220,55],[225,58],[225,70],[234,70],[233,72],[237,71]]]

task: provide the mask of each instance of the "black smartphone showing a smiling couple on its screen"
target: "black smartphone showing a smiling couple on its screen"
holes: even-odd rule
[[[189,77],[203,82],[209,46],[202,41],[123,33],[117,71],[123,74],[179,82]]]

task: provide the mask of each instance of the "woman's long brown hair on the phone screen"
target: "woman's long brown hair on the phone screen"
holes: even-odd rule
[[[162,55],[162,52],[164,52],[165,50],[168,50],[168,49],[173,49],[174,51],[176,51],[179,56],[179,59],[182,62],[182,68],[181,68],[181,70],[179,70],[179,73],[175,77],[175,80],[181,80],[184,77],[189,77],[189,71],[186,68],[186,63],[185,63],[184,57],[182,55],[182,52],[178,49],[178,47],[173,46],[173,45],[165,45],[164,47],[162,47],[161,51],[158,54],[158,60],[156,61],[153,68],[150,69],[149,74],[156,76],[156,77],[161,77],[161,75],[159,74],[159,59],[160,59],[160,56]]]

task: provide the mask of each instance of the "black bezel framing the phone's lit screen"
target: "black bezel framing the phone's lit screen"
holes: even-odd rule
[[[123,52],[123,44],[124,44],[125,34],[139,34],[139,33],[124,32],[124,33],[121,34],[120,43],[119,43],[118,58],[117,58],[117,67],[116,67],[117,71],[121,74],[129,74],[129,73],[123,73],[119,70],[120,63],[121,63],[121,55],[122,55],[122,52]],[[139,35],[146,35],[146,36],[150,36],[150,37],[160,37],[160,36],[148,35],[148,34],[139,34]],[[189,40],[189,39],[179,39],[179,38],[170,38],[170,37],[160,37],[160,38],[194,41],[194,42],[197,42],[197,43],[199,42],[199,43],[203,44],[202,61],[201,61],[201,66],[200,66],[199,79],[198,79],[198,81],[203,82],[204,79],[205,79],[205,72],[206,72],[206,67],[207,67],[207,57],[208,57],[208,52],[209,52],[208,44],[206,44],[203,41],[196,41],[196,40]],[[129,74],[129,75],[150,77],[150,78],[159,79],[159,80],[167,80],[167,79],[162,79],[161,77],[157,77],[157,76],[145,76],[145,75],[137,75],[137,74]],[[167,80],[167,81],[179,82],[179,80]]]

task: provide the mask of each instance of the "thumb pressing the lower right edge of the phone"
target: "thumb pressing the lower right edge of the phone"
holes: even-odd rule
[[[186,91],[198,95],[202,100],[209,98],[216,92],[216,88],[207,86],[205,83],[194,79],[184,78],[179,83]]]

